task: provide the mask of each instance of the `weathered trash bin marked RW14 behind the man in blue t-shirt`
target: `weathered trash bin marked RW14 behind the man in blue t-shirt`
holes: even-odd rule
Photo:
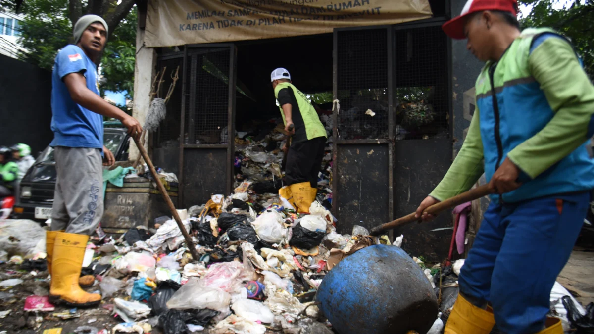
[[[167,182],[164,185],[177,207],[178,185]],[[106,233],[123,234],[135,226],[154,228],[155,218],[170,215],[169,207],[154,182],[141,177],[125,178],[121,188],[108,183],[101,226]]]

